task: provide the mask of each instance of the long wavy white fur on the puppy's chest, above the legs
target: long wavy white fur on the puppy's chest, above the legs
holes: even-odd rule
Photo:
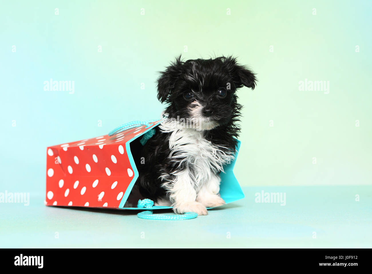
[[[204,137],[203,130],[182,128],[176,121],[165,120],[159,128],[170,133],[169,158],[179,167],[186,166],[196,188],[211,180],[212,176],[223,171],[225,164],[234,159],[233,152],[226,153],[222,146],[212,144]]]

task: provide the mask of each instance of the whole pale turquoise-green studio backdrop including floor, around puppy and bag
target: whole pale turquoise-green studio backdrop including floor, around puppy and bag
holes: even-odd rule
[[[372,1],[2,1],[0,192],[31,201],[1,205],[1,246],[371,247],[371,14]],[[238,91],[247,198],[151,229],[131,212],[45,207],[47,146],[158,119],[156,72],[181,53],[257,73]],[[255,203],[263,190],[287,206]]]

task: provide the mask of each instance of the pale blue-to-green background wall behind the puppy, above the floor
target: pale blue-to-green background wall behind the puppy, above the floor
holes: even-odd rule
[[[319,186],[324,195],[335,186],[336,198],[347,185],[340,197],[363,195],[371,219],[371,11],[371,1],[2,1],[0,192],[30,192],[32,206],[53,214],[42,205],[47,146],[160,117],[156,72],[178,54],[233,55],[259,80],[238,91],[234,172],[250,187],[248,203],[252,187]],[[74,94],[44,91],[50,78],[74,81]],[[305,79],[330,81],[329,94],[299,91]]]

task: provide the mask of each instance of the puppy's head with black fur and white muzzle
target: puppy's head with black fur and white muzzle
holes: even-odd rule
[[[158,99],[170,104],[173,118],[189,119],[201,129],[213,129],[231,122],[238,112],[238,88],[254,89],[256,77],[233,57],[195,59],[177,57],[158,78]]]

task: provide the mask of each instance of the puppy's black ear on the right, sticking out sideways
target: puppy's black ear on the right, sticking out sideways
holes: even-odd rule
[[[234,84],[237,88],[246,86],[248,88],[254,89],[257,81],[255,73],[253,73],[247,67],[238,64],[236,58],[233,58],[232,56],[226,57],[224,64],[230,71],[230,74],[234,79]]]

